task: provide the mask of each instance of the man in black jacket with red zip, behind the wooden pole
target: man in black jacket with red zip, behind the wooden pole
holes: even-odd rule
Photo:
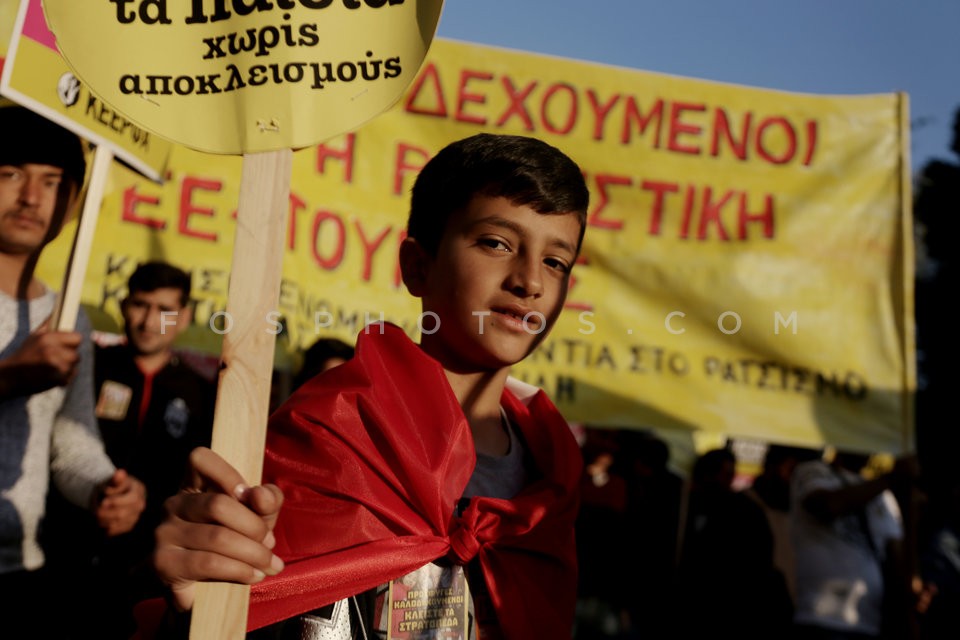
[[[64,600],[74,607],[78,638],[126,640],[136,628],[133,605],[163,593],[150,566],[153,532],[190,451],[210,445],[216,395],[214,383],[173,349],[192,318],[190,288],[190,275],[172,264],[139,265],[120,305],[126,340],[96,348],[96,415],[107,454],[143,480],[147,505],[133,531],[106,538],[51,496],[57,526],[45,544],[61,583],[71,585]],[[77,595],[80,576],[88,588]]]

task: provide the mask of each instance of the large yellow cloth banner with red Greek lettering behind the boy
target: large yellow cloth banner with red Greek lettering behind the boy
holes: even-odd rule
[[[417,335],[397,246],[409,190],[447,142],[529,134],[591,189],[567,309],[515,374],[574,422],[897,451],[915,387],[912,233],[898,95],[815,96],[438,40],[401,101],[294,154],[281,351],[353,340],[381,317]],[[84,301],[117,326],[138,260],[192,270],[215,353],[240,159],[175,147],[157,185],[116,167]],[[42,265],[59,278],[65,251]]]

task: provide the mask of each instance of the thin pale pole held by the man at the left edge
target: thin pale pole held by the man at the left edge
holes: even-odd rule
[[[110,173],[111,162],[113,162],[113,151],[106,145],[97,145],[83,211],[77,221],[77,232],[73,237],[70,259],[67,261],[67,272],[63,277],[57,303],[50,315],[50,328],[54,331],[73,331],[77,326],[83,280],[87,273],[87,263],[90,261],[90,247],[97,228],[97,218],[100,215],[103,190]]]

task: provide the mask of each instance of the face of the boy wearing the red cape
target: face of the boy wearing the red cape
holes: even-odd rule
[[[464,373],[522,360],[560,314],[579,236],[573,213],[475,197],[449,220],[435,258],[416,246],[418,265],[404,265],[410,292],[436,314],[423,318],[424,349]]]

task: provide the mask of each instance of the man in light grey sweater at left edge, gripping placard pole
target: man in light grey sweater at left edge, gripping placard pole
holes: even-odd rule
[[[75,135],[0,107],[0,625],[11,638],[69,624],[36,617],[50,602],[38,533],[51,480],[108,536],[129,531],[144,508],[143,484],[114,466],[97,432],[89,320],[80,309],[75,331],[49,326],[56,296],[34,275],[85,168]]]

